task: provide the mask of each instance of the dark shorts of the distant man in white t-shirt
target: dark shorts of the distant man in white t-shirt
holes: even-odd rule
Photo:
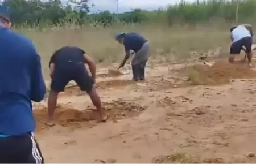
[[[230,54],[240,54],[241,50],[245,50],[246,53],[250,53],[251,45],[253,45],[253,39],[251,37],[242,38],[241,40],[232,43],[230,46]],[[245,49],[243,49],[243,46]]]

